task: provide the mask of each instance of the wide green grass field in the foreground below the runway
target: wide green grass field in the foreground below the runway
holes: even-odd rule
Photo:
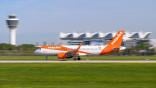
[[[156,64],[0,64],[0,88],[156,88]]]

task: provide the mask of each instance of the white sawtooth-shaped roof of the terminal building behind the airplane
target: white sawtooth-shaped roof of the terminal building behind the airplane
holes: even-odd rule
[[[116,33],[115,32],[95,32],[95,33],[63,33],[61,32],[59,37],[63,40],[77,40],[77,39],[111,39]],[[124,39],[148,39],[151,32],[126,32],[124,35]]]

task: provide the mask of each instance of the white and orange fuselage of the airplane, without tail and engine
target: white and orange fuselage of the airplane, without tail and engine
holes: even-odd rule
[[[58,53],[66,53],[76,49],[78,45],[61,45],[61,46],[48,46],[46,48],[39,48],[35,51],[36,54],[57,55]],[[105,45],[82,45],[79,49],[79,55],[100,55]]]

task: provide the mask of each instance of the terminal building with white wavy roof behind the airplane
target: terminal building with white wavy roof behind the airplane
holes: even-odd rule
[[[59,38],[69,45],[78,45],[83,42],[84,45],[103,45],[110,41],[116,32],[95,32],[95,33],[63,33]],[[142,41],[150,40],[151,32],[126,32],[123,38],[123,46],[134,47]]]

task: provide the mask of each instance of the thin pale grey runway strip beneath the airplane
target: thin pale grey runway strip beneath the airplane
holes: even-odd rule
[[[51,61],[51,60],[0,60],[0,63],[156,63],[156,60],[80,60],[80,61]]]

